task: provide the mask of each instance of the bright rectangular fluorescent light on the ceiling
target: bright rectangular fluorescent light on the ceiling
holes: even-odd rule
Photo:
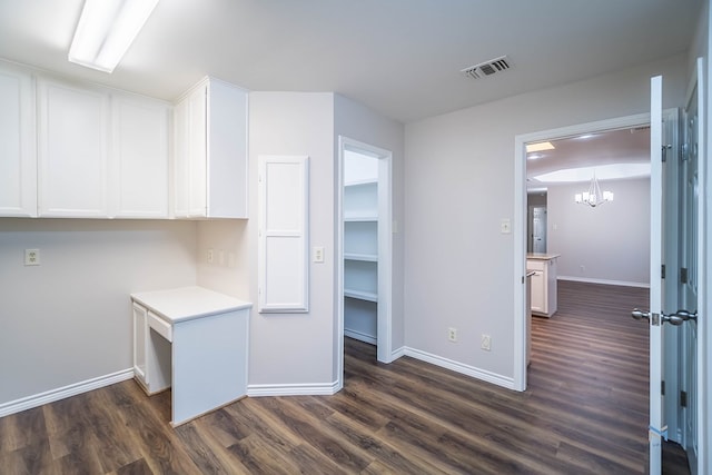
[[[69,60],[112,72],[158,0],[85,0]]]

